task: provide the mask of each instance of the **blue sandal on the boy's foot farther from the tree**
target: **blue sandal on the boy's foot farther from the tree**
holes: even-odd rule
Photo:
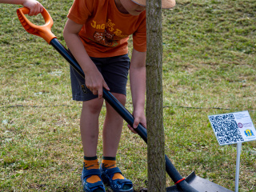
[[[98,177],[101,178],[101,171],[98,169],[85,170],[85,168],[83,168],[81,175],[83,190],[86,192],[106,192],[102,181],[95,183],[86,182],[86,179],[91,175],[98,175]]]

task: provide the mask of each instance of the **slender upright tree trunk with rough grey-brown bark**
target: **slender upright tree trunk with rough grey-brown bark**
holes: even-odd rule
[[[166,191],[165,136],[162,118],[161,0],[146,1],[146,126],[148,191]]]

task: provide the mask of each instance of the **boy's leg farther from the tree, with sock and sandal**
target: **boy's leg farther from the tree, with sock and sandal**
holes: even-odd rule
[[[94,98],[82,103],[80,130],[84,151],[82,169],[82,186],[85,191],[105,192],[101,172],[98,166],[98,116],[102,109],[103,99]]]

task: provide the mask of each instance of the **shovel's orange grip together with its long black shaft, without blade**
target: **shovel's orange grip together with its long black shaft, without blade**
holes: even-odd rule
[[[79,66],[78,62],[75,61],[75,58],[72,54],[60,42],[58,42],[58,39],[54,34],[51,33],[50,29],[51,26],[53,26],[54,22],[53,19],[50,17],[50,14],[44,9],[42,12],[42,16],[45,19],[46,24],[44,26],[36,26],[33,23],[31,23],[24,14],[29,14],[30,10],[27,8],[20,8],[17,10],[18,18],[20,22],[22,23],[22,26],[25,28],[27,32],[30,34],[35,34],[40,36],[41,38],[44,38],[46,42],[48,42],[50,45],[54,46],[56,50],[58,50],[59,54],[62,54],[64,58],[66,58],[66,61],[70,63],[70,65],[74,68],[74,70],[78,71],[78,74],[80,74],[84,78],[84,73]],[[122,116],[122,118],[132,126],[134,124],[134,117],[124,106],[122,106],[121,102],[118,102],[117,98],[114,98],[112,94],[110,94],[110,91],[103,88],[103,98],[110,103],[110,106],[114,108]],[[147,142],[147,133],[146,128],[142,126],[142,124],[139,124],[137,129],[137,133],[141,138]],[[197,190],[194,190],[192,186],[190,186],[185,180],[183,180],[182,176],[178,173],[178,170],[175,169],[173,164],[170,162],[170,159],[165,155],[166,158],[166,172],[170,175],[170,178],[173,179],[175,183],[182,189],[184,192],[198,192]]]

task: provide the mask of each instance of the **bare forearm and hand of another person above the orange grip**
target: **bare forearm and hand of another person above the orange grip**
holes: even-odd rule
[[[29,15],[37,15],[42,12],[43,6],[35,0],[0,0],[0,3],[22,5],[30,9]]]

